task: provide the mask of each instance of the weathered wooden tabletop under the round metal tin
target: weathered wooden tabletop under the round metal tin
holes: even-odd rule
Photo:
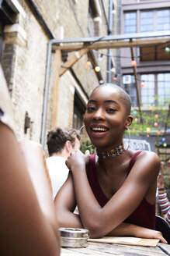
[[[85,248],[61,248],[61,256],[75,255],[116,255],[116,256],[170,256],[170,245],[158,244],[157,247],[142,247],[120,244],[89,243]]]

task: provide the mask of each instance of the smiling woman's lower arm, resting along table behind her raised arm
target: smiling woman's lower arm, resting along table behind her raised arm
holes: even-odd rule
[[[88,158],[86,158],[88,162]],[[79,215],[75,215],[73,212],[75,210],[75,189],[72,180],[72,173],[68,175],[68,180],[64,183],[61,190],[59,190],[57,196],[55,197],[55,207],[57,212],[57,219],[61,227],[72,227],[72,228],[85,228],[82,225]],[[83,191],[83,190],[82,190]],[[82,193],[81,191],[81,193]],[[84,194],[86,192],[84,190]],[[89,201],[88,204],[91,204]],[[90,215],[86,215],[86,219],[91,219]],[[86,227],[87,228],[87,227]],[[110,233],[106,233],[107,236],[137,236],[144,238],[157,238],[160,239],[162,243],[166,244],[165,239],[161,236],[161,233],[151,229],[142,228],[129,223],[121,223],[116,226],[115,229],[111,230]],[[99,237],[99,236],[96,236]]]

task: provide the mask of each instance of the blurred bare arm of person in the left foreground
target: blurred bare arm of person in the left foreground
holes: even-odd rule
[[[59,255],[60,235],[42,149],[26,144],[22,151],[12,130],[1,122],[0,145],[1,254]]]

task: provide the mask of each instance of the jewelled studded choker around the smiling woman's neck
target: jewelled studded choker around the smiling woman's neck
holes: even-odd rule
[[[108,151],[99,151],[96,150],[97,155],[101,159],[110,159],[110,158],[115,158],[118,155],[122,155],[124,151],[123,145],[120,144],[120,146],[112,148]]]

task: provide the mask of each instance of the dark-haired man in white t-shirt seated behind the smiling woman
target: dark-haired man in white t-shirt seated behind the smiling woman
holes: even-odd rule
[[[54,128],[47,133],[47,148],[50,157],[46,161],[53,188],[53,199],[68,177],[69,169],[65,161],[72,151],[80,149],[80,140],[80,132],[72,128]]]

